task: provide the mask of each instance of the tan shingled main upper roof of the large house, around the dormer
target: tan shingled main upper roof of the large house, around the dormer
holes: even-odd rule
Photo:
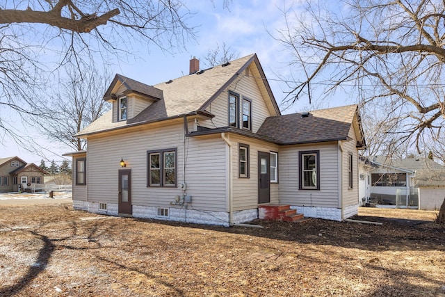
[[[216,99],[216,97],[218,97],[230,83],[234,82],[238,77],[242,77],[242,75],[244,75],[243,71],[249,67],[251,63],[254,63],[257,66],[259,72],[258,75],[254,75],[255,79],[257,79],[258,83],[261,83],[264,86],[265,92],[267,92],[268,96],[271,98],[272,104],[269,108],[273,113],[280,115],[280,109],[275,102],[268,81],[264,79],[265,74],[259,63],[258,57],[256,54],[251,54],[239,58],[238,60],[231,61],[230,63],[211,67],[207,70],[201,70],[194,74],[172,79],[154,86],[148,86],[118,74],[108,88],[104,99],[113,99],[111,98],[111,92],[115,83],[123,83],[126,88],[136,90],[140,94],[153,95],[156,93],[156,96],[161,97],[161,99],[150,104],[145,110],[127,121],[113,122],[113,111],[108,111],[105,115],[98,120],[95,120],[95,122],[92,122],[92,124],[75,136],[86,136],[89,134],[100,133],[102,131],[143,125],[149,122],[170,120],[172,118],[180,118],[184,115],[200,114],[211,118],[213,115],[207,111],[209,104],[211,104],[213,99]],[[160,92],[162,93],[162,96],[160,95]]]

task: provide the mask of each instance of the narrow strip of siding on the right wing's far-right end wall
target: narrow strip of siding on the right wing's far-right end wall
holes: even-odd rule
[[[359,167],[358,167],[358,150],[356,147],[357,138],[355,137],[353,125],[351,125],[348,136],[350,141],[343,141],[342,154],[342,172],[343,172],[343,207],[356,205],[359,203]],[[353,188],[348,187],[348,154],[353,154]]]

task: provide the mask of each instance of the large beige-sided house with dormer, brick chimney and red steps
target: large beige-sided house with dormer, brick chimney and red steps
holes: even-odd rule
[[[232,225],[285,204],[357,214],[356,105],[282,115],[256,54],[149,86],[117,74],[112,109],[76,134],[73,205],[113,216]]]

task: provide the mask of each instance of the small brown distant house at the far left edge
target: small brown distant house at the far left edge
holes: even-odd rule
[[[44,189],[44,170],[26,163],[17,156],[0,159],[0,192],[41,191]]]

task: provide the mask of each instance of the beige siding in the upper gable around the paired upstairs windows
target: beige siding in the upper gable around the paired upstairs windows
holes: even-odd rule
[[[254,77],[246,77],[244,72],[240,77],[241,79],[236,79],[229,88],[220,93],[220,95],[209,105],[207,111],[211,112],[215,117],[212,120],[202,122],[201,125],[203,127],[215,128],[227,127],[229,125],[229,90],[239,95],[240,102],[242,102],[243,97],[252,100],[253,132],[256,132],[259,127],[261,127],[264,120],[271,115]],[[242,119],[243,111],[241,104],[239,104],[238,111],[238,117]]]

